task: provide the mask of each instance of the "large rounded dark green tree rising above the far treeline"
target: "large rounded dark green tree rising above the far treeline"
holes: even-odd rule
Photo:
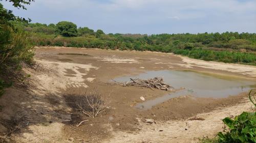
[[[68,21],[61,21],[56,24],[57,33],[64,37],[75,37],[77,36],[76,24]]]

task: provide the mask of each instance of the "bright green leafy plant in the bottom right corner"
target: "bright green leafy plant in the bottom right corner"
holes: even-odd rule
[[[256,113],[243,112],[234,118],[225,118],[222,120],[230,131],[219,132],[219,142],[221,143],[243,143],[256,142]]]

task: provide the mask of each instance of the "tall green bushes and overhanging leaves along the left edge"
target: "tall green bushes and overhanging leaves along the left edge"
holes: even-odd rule
[[[24,8],[23,4],[28,4],[27,1],[10,2],[18,8]],[[14,77],[19,78],[16,75],[21,64],[32,63],[33,60],[33,46],[29,34],[16,26],[17,22],[28,23],[26,19],[14,16],[12,11],[4,9],[0,4],[0,96],[12,84]]]

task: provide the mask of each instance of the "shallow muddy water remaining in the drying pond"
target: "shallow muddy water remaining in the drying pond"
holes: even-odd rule
[[[152,106],[162,103],[170,98],[184,95],[205,98],[224,98],[256,88],[256,81],[233,76],[205,74],[192,71],[148,71],[136,76],[119,77],[115,80],[124,82],[129,81],[130,78],[146,79],[153,77],[163,77],[164,82],[172,85],[177,92],[139,103],[136,105],[137,108],[150,109]],[[184,89],[179,90],[181,88]]]

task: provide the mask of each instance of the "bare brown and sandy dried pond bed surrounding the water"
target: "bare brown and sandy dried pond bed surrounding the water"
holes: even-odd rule
[[[166,91],[120,87],[105,82],[114,77],[148,70],[192,70],[255,80],[256,67],[205,62],[171,53],[113,51],[100,49],[36,49],[36,67],[29,88],[13,87],[0,98],[1,121],[25,115],[24,128],[12,136],[17,142],[195,142],[221,131],[221,119],[251,110],[246,93],[222,99],[178,97],[138,110],[133,106]],[[74,106],[74,96],[97,89],[110,95],[110,109],[97,118],[82,116]],[[72,121],[67,122],[66,116]],[[188,120],[197,117],[204,120]],[[154,119],[156,124],[144,123]],[[74,124],[89,120],[75,127]],[[185,128],[187,130],[185,130]],[[0,135],[7,129],[0,124]]]

